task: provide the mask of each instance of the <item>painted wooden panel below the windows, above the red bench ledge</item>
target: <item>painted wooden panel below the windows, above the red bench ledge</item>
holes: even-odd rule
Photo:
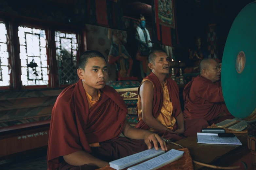
[[[0,92],[0,127],[49,120],[61,91]]]

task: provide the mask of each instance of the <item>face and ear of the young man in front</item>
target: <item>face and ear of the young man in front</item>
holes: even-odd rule
[[[89,58],[84,71],[77,70],[80,79],[83,80],[84,88],[102,89],[108,79],[107,63],[103,58]]]

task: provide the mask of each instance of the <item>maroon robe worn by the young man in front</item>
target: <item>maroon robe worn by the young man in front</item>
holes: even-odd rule
[[[47,164],[48,170],[73,167],[64,162],[64,155],[84,150],[104,161],[112,161],[147,149],[144,140],[119,137],[122,132],[127,106],[110,86],[89,110],[82,80],[64,89],[52,110]],[[97,143],[101,147],[90,147]],[[88,168],[89,165],[84,165]],[[82,166],[77,166],[83,169]]]

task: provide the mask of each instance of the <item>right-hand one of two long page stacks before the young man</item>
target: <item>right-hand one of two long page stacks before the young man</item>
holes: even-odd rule
[[[184,151],[171,149],[170,151],[148,160],[144,163],[132,166],[128,170],[155,170],[168,163],[172,163],[183,156]]]

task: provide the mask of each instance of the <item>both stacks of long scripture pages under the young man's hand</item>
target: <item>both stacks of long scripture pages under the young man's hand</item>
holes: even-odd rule
[[[164,152],[165,151],[163,151],[162,149],[156,150],[155,148],[152,148],[112,161],[109,164],[111,168],[120,170],[149,159],[144,163],[137,164],[135,166],[128,168],[128,170],[155,170],[164,165],[167,165],[168,163],[172,163],[180,159],[184,153],[183,151],[175,149],[171,149],[166,153]]]

